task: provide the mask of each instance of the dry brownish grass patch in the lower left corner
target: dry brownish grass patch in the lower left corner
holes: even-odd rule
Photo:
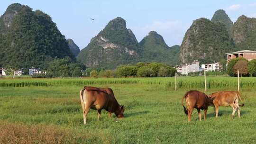
[[[88,138],[57,126],[26,126],[0,121],[0,144],[77,144]]]

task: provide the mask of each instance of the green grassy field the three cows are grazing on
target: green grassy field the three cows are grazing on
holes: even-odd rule
[[[167,80],[166,80],[167,79]],[[187,90],[166,88],[174,78],[122,79],[130,83],[92,83],[92,86],[110,87],[119,104],[125,106],[125,118],[109,118],[102,111],[88,114],[88,124],[82,124],[79,90],[84,83],[56,83],[65,80],[0,80],[0,83],[17,81],[46,81],[49,85],[29,87],[0,87],[0,143],[59,143],[59,144],[255,144],[256,143],[256,90],[242,88],[241,118],[231,119],[232,108],[221,107],[219,118],[208,110],[208,119],[199,122],[194,110],[192,122],[187,122],[181,99]],[[189,78],[194,79],[196,78]],[[210,78],[214,80],[214,78]],[[216,78],[229,79],[229,78]],[[201,81],[201,78],[198,78]],[[86,80],[78,80],[86,81]],[[91,80],[93,81],[93,80]],[[104,81],[98,79],[95,81]],[[110,81],[107,80],[106,81]],[[112,80],[111,80],[112,81]],[[121,81],[121,79],[120,79]],[[144,81],[144,82],[138,82]],[[145,82],[147,81],[147,82]],[[150,83],[150,81],[153,81]],[[155,81],[160,81],[157,83]],[[235,81],[232,79],[232,81]],[[248,80],[249,81],[249,80]],[[236,90],[236,87],[211,88]]]

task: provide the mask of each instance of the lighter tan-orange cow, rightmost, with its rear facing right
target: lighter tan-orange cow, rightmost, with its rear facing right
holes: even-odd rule
[[[214,105],[215,117],[218,117],[219,106],[231,106],[233,108],[232,117],[234,118],[236,110],[238,110],[238,117],[240,117],[240,107],[243,107],[244,104],[239,105],[238,99],[240,98],[240,93],[238,91],[219,91],[209,95]]]

